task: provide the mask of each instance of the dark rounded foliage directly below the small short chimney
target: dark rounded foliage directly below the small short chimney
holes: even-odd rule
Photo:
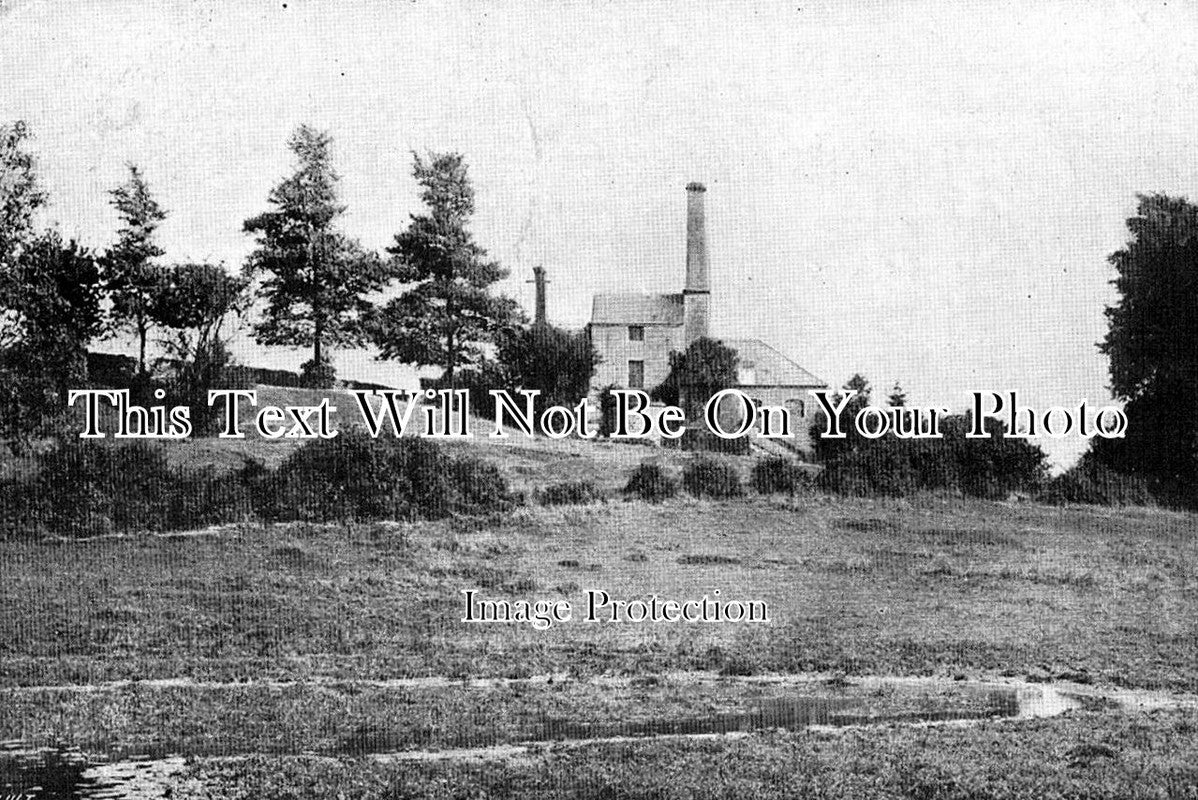
[[[514,387],[540,392],[538,408],[574,407],[591,390],[599,354],[583,331],[534,325],[500,338],[498,362]]]

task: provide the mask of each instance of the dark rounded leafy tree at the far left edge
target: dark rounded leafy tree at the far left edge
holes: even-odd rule
[[[99,268],[48,231],[0,271],[0,430],[29,430],[66,408],[103,331]]]

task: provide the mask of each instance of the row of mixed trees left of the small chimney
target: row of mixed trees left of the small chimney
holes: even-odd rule
[[[168,212],[135,164],[110,192],[120,220],[111,247],[97,254],[38,232],[47,198],[28,140],[23,123],[0,128],[0,392],[10,432],[61,411],[67,389],[86,381],[89,345],[119,332],[135,340],[137,398],[165,375],[173,399],[193,406],[193,420],[204,417],[196,408],[231,363],[226,325],[255,304],[256,341],[311,349],[305,386],[333,384],[335,349],[373,344],[380,358],[438,368],[443,386],[485,376],[488,388],[539,389],[553,404],[589,388],[597,358],[585,334],[528,326],[514,301],[492,293],[508,272],[470,230],[474,189],[459,153],[413,153],[424,210],[379,254],[343,230],[331,135],[300,126],[288,143],[295,170],[271,189],[268,210],[244,222],[256,246],[235,273],[164,263],[157,234]],[[162,357],[151,363],[155,340]]]

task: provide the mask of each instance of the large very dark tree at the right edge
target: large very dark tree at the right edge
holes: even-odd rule
[[[1099,346],[1126,402],[1124,440],[1095,440],[1096,457],[1198,502],[1198,206],[1140,195],[1131,240],[1109,256],[1119,292]]]

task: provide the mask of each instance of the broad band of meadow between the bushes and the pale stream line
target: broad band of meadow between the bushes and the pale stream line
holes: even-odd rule
[[[0,545],[0,679],[1089,673],[1198,689],[1193,517],[813,498]],[[763,599],[770,625],[461,624],[462,588]],[[743,663],[742,663],[743,662]]]

